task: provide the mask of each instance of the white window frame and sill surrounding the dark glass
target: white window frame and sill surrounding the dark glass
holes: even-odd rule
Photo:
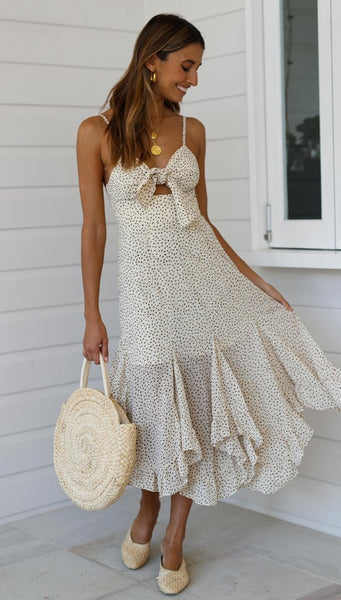
[[[282,217],[286,157],[280,9],[280,0],[245,0],[252,251],[243,257],[255,265],[340,269],[341,176],[334,169],[341,157],[341,75],[335,64],[341,67],[340,2],[318,0],[321,220]],[[270,243],[264,239],[269,205]]]

